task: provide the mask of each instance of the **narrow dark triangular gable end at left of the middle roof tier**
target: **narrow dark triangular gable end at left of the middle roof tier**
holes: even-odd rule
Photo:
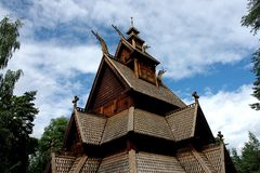
[[[63,148],[65,151],[69,151],[73,155],[82,149],[82,139],[77,125],[75,114],[73,114],[69,120],[68,129],[66,131],[66,136],[63,143]]]

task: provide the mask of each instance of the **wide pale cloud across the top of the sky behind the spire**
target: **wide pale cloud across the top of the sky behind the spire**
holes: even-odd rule
[[[234,5],[235,4],[235,5]],[[118,8],[120,6],[120,8]],[[255,49],[257,39],[240,26],[246,1],[34,1],[29,11],[36,26],[56,28],[77,21],[104,35],[110,24],[123,31],[130,16],[152,45],[150,50],[174,79],[207,72],[216,63],[234,63]],[[77,26],[72,26],[72,29]],[[101,28],[102,27],[102,28]],[[115,34],[112,35],[115,37]]]

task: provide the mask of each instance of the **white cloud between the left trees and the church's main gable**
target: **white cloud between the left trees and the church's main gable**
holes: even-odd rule
[[[38,91],[36,105],[40,114],[35,120],[34,135],[40,137],[50,119],[70,116],[74,95],[86,102],[89,92],[86,84],[92,82],[86,80],[87,74],[98,69],[101,52],[94,45],[64,48],[50,42],[30,42],[24,43],[14,56],[9,68],[22,68],[25,75],[18,81],[15,94]],[[76,78],[79,74],[86,79]]]

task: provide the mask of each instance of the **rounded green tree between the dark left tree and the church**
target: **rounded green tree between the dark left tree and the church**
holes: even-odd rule
[[[58,152],[63,146],[64,134],[68,125],[65,117],[52,119],[39,139],[39,146],[30,158],[29,173],[41,173],[50,161],[51,152]]]

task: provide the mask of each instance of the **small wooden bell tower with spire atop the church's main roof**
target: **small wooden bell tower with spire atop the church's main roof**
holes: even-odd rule
[[[138,79],[158,86],[156,66],[159,62],[146,52],[146,49],[150,46],[139,37],[140,31],[133,26],[133,21],[131,21],[131,27],[127,31],[127,38],[123,37],[117,27],[114,26],[114,28],[120,36],[115,58],[131,68]]]

